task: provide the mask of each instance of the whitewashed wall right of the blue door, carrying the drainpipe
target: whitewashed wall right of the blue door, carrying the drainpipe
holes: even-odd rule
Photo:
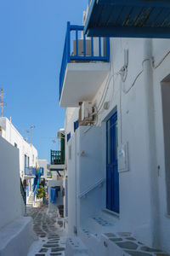
[[[124,65],[124,49],[128,49],[129,57],[127,78],[122,82],[119,71]],[[170,218],[167,215],[161,81],[170,74],[169,50],[169,40],[111,39],[111,72],[93,101],[98,112],[97,125],[103,127],[103,159],[100,161],[105,162],[105,120],[115,108],[118,143],[129,146],[129,172],[120,173],[117,226],[120,230],[132,231],[147,245],[167,251],[170,251]],[[107,110],[105,102],[109,102]],[[78,108],[65,121],[66,133],[72,131],[77,117]],[[66,158],[68,161],[68,155]]]

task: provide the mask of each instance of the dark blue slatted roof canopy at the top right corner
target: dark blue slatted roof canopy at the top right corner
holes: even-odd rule
[[[91,37],[170,38],[170,0],[91,0]]]

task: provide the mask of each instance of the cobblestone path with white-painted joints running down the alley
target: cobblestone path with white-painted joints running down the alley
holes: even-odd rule
[[[64,256],[66,237],[59,228],[58,212],[48,213],[48,206],[44,205],[27,207],[27,214],[33,218],[33,230],[38,237],[31,245],[28,256]]]

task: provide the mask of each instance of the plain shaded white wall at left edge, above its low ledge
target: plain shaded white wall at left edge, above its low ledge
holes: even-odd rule
[[[19,149],[0,137],[0,229],[22,214]]]

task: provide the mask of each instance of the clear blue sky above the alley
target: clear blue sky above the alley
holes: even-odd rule
[[[8,107],[4,116],[49,160],[56,132],[64,126],[59,108],[59,69],[66,22],[82,25],[88,0],[0,0],[0,87]]]

